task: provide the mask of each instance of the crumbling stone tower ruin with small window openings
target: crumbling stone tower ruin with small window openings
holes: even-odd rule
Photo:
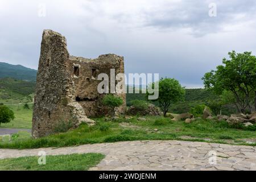
[[[124,73],[123,57],[114,54],[101,55],[97,59],[70,56],[65,37],[44,30],[36,77],[32,137],[52,134],[61,123],[69,122],[72,127],[81,122],[93,125],[94,121],[88,117],[108,113],[108,108],[102,105],[104,94],[97,91],[101,82],[97,76],[106,73],[110,78],[110,69],[115,69],[115,75]],[[126,95],[115,95],[123,99],[118,113],[124,113]]]

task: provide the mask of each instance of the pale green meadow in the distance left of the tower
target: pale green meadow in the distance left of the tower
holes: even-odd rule
[[[15,129],[31,129],[32,127],[32,104],[28,104],[30,109],[23,109],[24,104],[7,105],[14,111],[15,119],[10,123],[1,123],[0,127]]]

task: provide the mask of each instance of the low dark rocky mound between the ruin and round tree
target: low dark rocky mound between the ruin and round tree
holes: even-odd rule
[[[127,113],[131,115],[137,115],[138,113],[141,115],[161,115],[162,114],[159,107],[156,107],[153,104],[148,104],[147,109],[143,109],[143,110],[138,109],[137,107],[134,107],[134,106],[130,106]]]

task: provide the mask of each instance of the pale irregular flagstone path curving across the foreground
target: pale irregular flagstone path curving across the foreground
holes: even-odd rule
[[[256,170],[256,147],[176,140],[85,144],[32,150],[0,149],[0,159],[38,155],[42,150],[47,155],[105,154],[106,158],[90,170]],[[209,164],[211,152],[216,152],[216,164]]]

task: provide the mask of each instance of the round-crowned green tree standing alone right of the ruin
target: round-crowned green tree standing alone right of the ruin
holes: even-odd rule
[[[174,78],[161,78],[158,84],[158,99],[152,101],[158,103],[160,109],[163,111],[164,117],[166,117],[171,104],[184,100],[185,89]],[[152,83],[152,88],[154,88],[154,85],[155,83]]]

